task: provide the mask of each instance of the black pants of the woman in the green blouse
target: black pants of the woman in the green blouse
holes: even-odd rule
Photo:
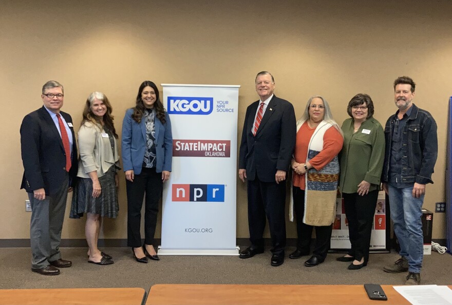
[[[348,220],[348,235],[351,243],[348,255],[356,260],[364,257],[364,262],[367,263],[378,189],[372,190],[364,196],[360,196],[358,193],[343,193],[342,197],[344,198],[345,216]]]

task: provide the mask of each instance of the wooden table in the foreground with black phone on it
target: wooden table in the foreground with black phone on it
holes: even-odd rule
[[[146,305],[166,304],[310,304],[409,305],[392,285],[382,285],[388,300],[367,297],[364,285],[200,285],[158,284],[149,291]],[[452,286],[449,286],[452,288]]]

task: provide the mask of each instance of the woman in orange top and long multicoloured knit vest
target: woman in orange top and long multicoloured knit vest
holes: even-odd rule
[[[322,263],[330,247],[332,223],[335,218],[339,161],[344,138],[333,120],[327,101],[320,96],[309,99],[302,118],[297,122],[294,158],[291,166],[292,196],[290,220],[296,215],[297,249],[289,258],[309,254],[312,230],[315,246],[305,266]]]

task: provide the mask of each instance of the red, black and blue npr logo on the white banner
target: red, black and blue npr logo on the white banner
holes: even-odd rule
[[[224,202],[224,184],[173,184],[173,201]]]

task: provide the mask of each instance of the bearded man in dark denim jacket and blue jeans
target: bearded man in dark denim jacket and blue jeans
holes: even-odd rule
[[[425,184],[438,157],[437,125],[428,111],[412,103],[416,84],[409,77],[394,81],[394,102],[399,110],[385,126],[386,151],[383,189],[389,196],[394,232],[401,258],[383,268],[389,273],[408,271],[405,284],[421,283],[423,235],[421,208]]]

